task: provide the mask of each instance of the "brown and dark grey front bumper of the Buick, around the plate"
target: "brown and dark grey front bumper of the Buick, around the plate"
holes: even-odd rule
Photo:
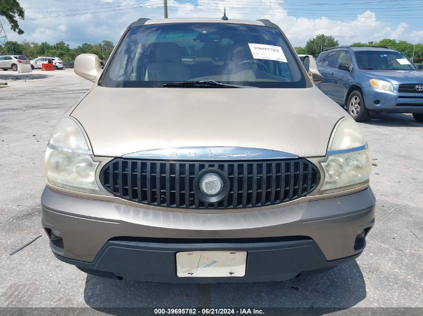
[[[54,254],[87,272],[144,281],[203,282],[202,278],[176,277],[175,254],[232,249],[247,251],[246,276],[216,281],[269,281],[358,257],[365,242],[357,243],[357,232],[373,226],[374,204],[367,188],[271,210],[178,213],[84,199],[46,188],[42,223],[63,236],[61,244],[50,242]]]

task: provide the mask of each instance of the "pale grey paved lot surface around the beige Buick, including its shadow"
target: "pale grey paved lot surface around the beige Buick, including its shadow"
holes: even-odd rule
[[[0,307],[71,308],[60,315],[101,314],[112,307],[329,307],[334,315],[355,315],[360,307],[419,307],[407,311],[423,314],[423,124],[410,115],[380,115],[360,124],[372,153],[377,206],[376,225],[356,261],[279,283],[137,283],[87,277],[58,261],[40,224],[50,133],[91,82],[72,70],[0,71],[0,82],[5,81],[7,86],[0,85]],[[84,307],[89,309],[78,309]]]

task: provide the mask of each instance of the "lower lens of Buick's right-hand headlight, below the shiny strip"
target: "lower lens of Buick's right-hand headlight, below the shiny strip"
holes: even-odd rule
[[[320,163],[324,170],[324,183],[320,190],[342,188],[367,181],[371,158],[368,149],[331,155]]]

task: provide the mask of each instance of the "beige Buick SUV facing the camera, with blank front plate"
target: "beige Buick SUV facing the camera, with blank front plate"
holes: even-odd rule
[[[310,71],[321,78],[310,60]],[[374,224],[358,124],[269,20],[141,18],[49,140],[55,256],[152,282],[286,280],[354,260]]]

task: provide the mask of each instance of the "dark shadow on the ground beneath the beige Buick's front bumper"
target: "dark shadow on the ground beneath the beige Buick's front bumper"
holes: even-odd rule
[[[275,315],[281,311],[303,314],[296,312],[305,309],[307,315],[317,316],[348,309],[365,297],[364,278],[355,260],[325,273],[283,282],[163,284],[88,275],[84,290],[89,307],[117,316],[153,315],[154,308],[194,307],[284,308],[273,310]]]

